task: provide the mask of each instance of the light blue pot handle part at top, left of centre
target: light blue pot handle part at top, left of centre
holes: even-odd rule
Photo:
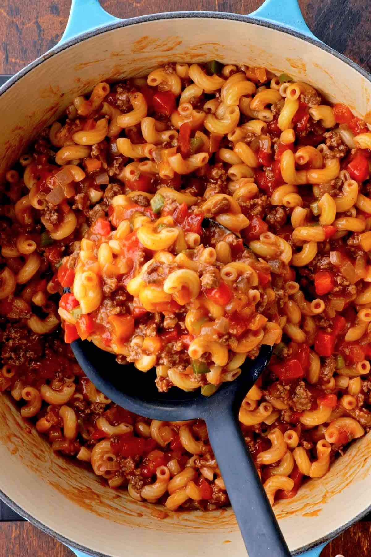
[[[98,0],[72,0],[70,17],[68,17],[65,32],[58,45],[62,45],[81,33],[87,33],[102,25],[118,21],[122,21],[122,19],[111,16],[102,8]]]

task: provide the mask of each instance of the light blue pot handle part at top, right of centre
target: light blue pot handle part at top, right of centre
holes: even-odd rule
[[[298,0],[265,0],[260,8],[250,13],[250,17],[279,23],[318,41],[304,21]]]

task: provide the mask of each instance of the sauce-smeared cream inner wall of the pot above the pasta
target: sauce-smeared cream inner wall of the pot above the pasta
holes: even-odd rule
[[[0,172],[9,168],[44,126],[74,96],[108,77],[145,75],[167,61],[264,65],[308,81],[359,114],[370,110],[370,82],[321,48],[273,28],[210,18],[159,19],[93,36],[48,57],[0,97]],[[231,456],[233,458],[233,456]],[[91,552],[189,557],[244,556],[231,509],[154,516],[153,505],[110,490],[88,472],[55,455],[24,423],[6,397],[0,398],[0,490],[28,515]],[[371,502],[371,437],[311,480],[293,500],[274,509],[291,551],[330,535]],[[249,494],[241,494],[248,499]],[[263,557],[263,556],[262,556]]]

